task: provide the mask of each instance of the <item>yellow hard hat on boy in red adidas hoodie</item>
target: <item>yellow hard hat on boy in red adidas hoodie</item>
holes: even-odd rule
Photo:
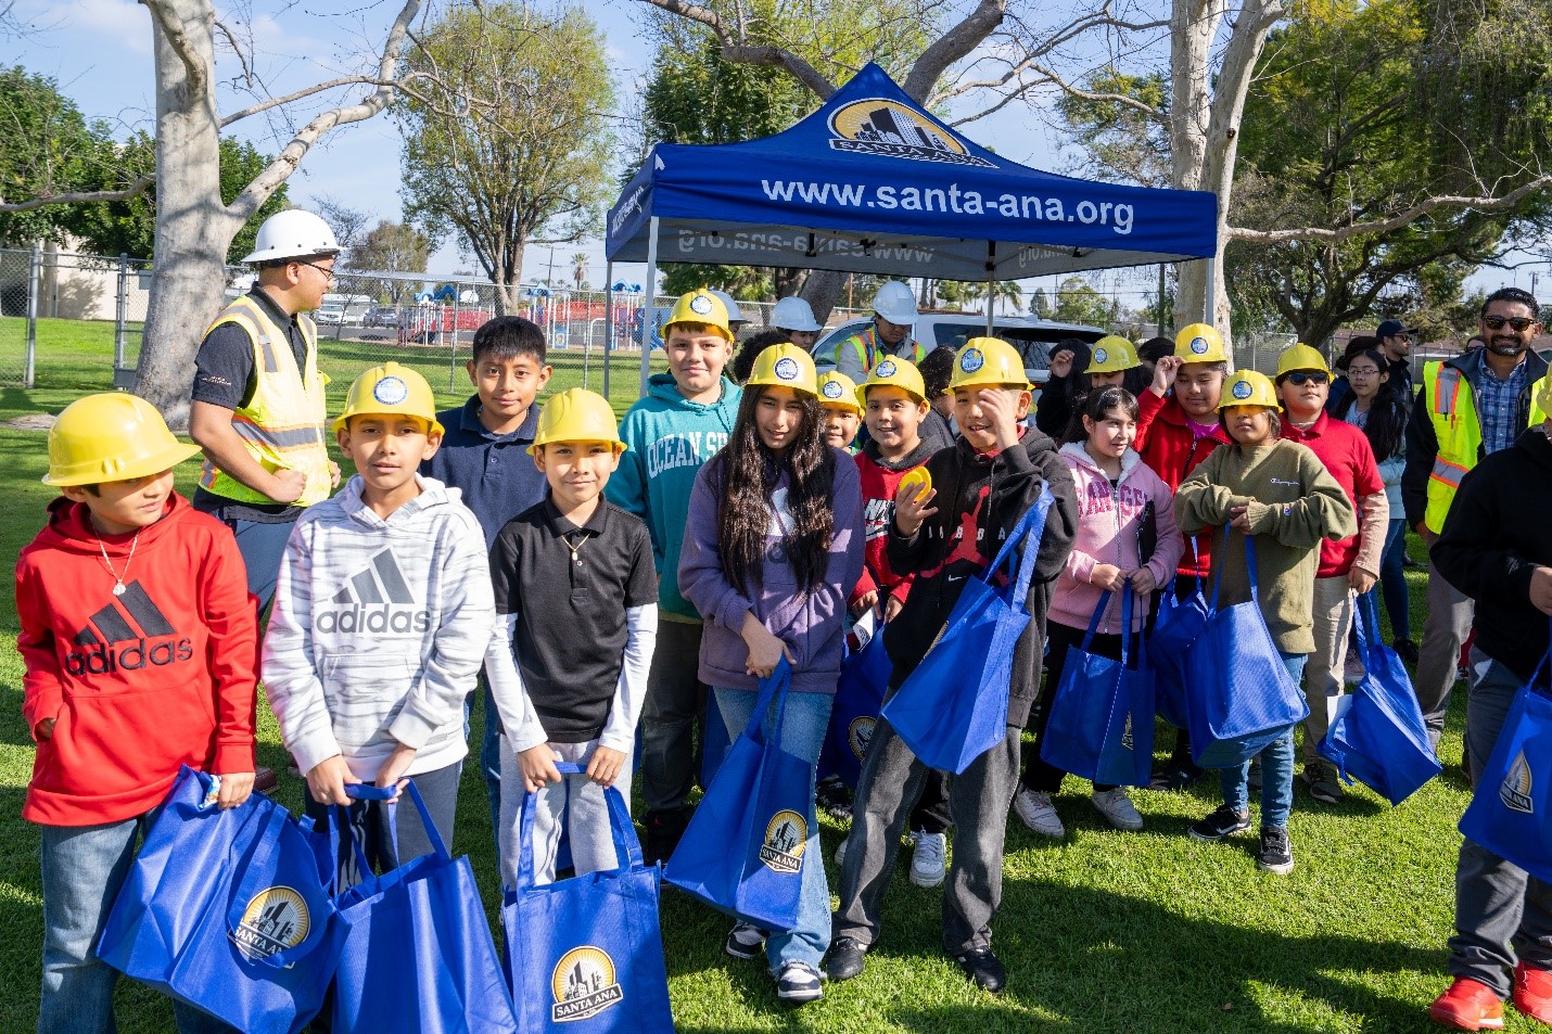
[[[199,446],[185,446],[157,407],[138,394],[104,391],[76,399],[48,429],[43,484],[104,484],[161,474]]]

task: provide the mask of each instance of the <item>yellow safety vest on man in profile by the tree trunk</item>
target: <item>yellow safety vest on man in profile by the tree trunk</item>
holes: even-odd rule
[[[324,438],[329,407],[323,391],[329,377],[318,370],[318,328],[307,317],[296,320],[307,343],[304,368],[298,370],[286,331],[250,295],[227,306],[205,334],[223,323],[241,326],[253,343],[253,397],[233,410],[231,429],[242,438],[248,455],[265,470],[301,470],[307,475],[307,488],[296,506],[312,506],[329,498],[332,478]],[[275,505],[273,498],[250,489],[208,458],[199,483],[206,492],[222,498]]]

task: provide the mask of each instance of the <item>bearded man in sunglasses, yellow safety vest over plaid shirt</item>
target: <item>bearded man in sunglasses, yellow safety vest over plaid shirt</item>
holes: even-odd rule
[[[1423,366],[1423,385],[1406,425],[1401,501],[1406,523],[1432,548],[1443,531],[1460,478],[1482,456],[1510,447],[1543,418],[1535,405],[1547,362],[1530,351],[1541,332],[1536,300],[1518,287],[1487,297],[1481,312],[1484,348]],[[1428,618],[1419,651],[1417,702],[1439,745],[1460,644],[1471,630],[1473,604],[1439,573],[1428,573]]]

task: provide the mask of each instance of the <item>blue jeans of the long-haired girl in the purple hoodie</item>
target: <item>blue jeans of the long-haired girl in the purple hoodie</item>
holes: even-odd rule
[[[728,741],[736,742],[754,714],[751,689],[717,688],[717,708],[728,727]],[[813,800],[813,769],[824,747],[824,731],[830,727],[835,697],[826,692],[788,692],[787,716],[781,728],[781,747],[809,762],[809,800]],[[776,719],[774,708],[767,722]],[[824,854],[819,851],[819,823],[809,823],[809,843],[802,852],[802,888],[798,894],[798,924],[792,930],[774,930],[765,939],[765,961],[771,973],[785,963],[807,963],[819,969],[830,950],[830,883],[824,877]]]

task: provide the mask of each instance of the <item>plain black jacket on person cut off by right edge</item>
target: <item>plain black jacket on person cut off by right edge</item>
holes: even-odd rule
[[[1529,680],[1547,651],[1547,615],[1530,605],[1530,573],[1552,567],[1552,441],[1541,427],[1460,481],[1434,568],[1476,601],[1476,646]]]

